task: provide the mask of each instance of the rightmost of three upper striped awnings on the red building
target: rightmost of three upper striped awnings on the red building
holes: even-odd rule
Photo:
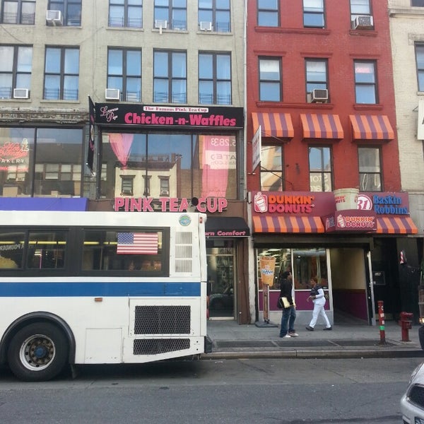
[[[349,115],[353,140],[393,140],[394,131],[387,115]]]

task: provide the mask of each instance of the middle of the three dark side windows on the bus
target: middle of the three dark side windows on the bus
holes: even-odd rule
[[[65,265],[65,231],[30,231],[28,269],[62,269]]]

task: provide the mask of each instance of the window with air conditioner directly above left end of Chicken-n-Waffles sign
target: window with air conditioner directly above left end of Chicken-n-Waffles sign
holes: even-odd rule
[[[107,88],[118,89],[121,100],[141,102],[141,50],[109,49]]]

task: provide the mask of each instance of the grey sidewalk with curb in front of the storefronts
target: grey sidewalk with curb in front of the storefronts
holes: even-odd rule
[[[264,323],[239,325],[237,322],[209,320],[208,336],[213,341],[211,353],[202,359],[217,358],[424,358],[418,338],[420,325],[408,330],[409,341],[402,341],[401,326],[385,322],[379,325],[339,324],[332,331],[315,326],[295,326],[298,337],[280,338],[279,328]],[[384,342],[385,343],[382,343]]]

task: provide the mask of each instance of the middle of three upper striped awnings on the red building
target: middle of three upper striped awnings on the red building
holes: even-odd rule
[[[304,139],[343,139],[338,114],[300,114]]]

